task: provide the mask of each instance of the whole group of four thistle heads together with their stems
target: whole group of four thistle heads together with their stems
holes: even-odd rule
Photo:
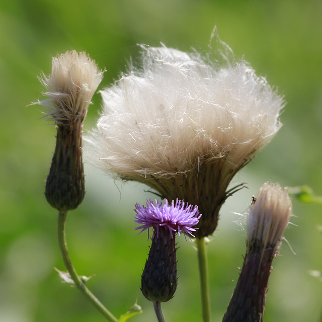
[[[234,175],[281,127],[283,100],[243,59],[216,36],[213,54],[142,45],[141,68],[101,91],[103,111],[86,137],[87,155],[98,168],[121,180],[142,182],[164,200],[135,205],[136,229],[151,228],[151,247],[141,277],[141,291],[160,303],[177,288],[176,235],[194,238],[200,276],[202,318],[210,322],[206,237],[218,224],[225,200],[244,184],[229,188]],[[111,322],[124,322],[135,305],[117,319],[76,273],[66,245],[67,211],[83,201],[85,180],[82,127],[103,71],[85,53],[53,58],[52,72],[41,82],[48,99],[45,119],[57,128],[56,148],[45,195],[58,213],[58,243],[67,273],[75,285]],[[169,200],[169,203],[168,203]],[[250,206],[247,253],[224,322],[262,322],[271,263],[292,213],[287,194],[266,183]],[[201,215],[202,214],[202,215]],[[212,270],[213,271],[213,270]]]

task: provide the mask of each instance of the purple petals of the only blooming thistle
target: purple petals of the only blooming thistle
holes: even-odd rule
[[[168,200],[164,199],[164,205],[162,202],[158,202],[155,199],[155,206],[151,199],[146,201],[146,207],[140,204],[135,204],[136,213],[135,222],[142,224],[135,229],[142,229],[140,233],[150,227],[156,230],[156,235],[159,233],[159,226],[166,226],[169,228],[171,237],[173,238],[173,232],[180,231],[185,235],[191,235],[194,237],[192,231],[196,231],[193,228],[198,222],[201,214],[199,214],[198,206],[189,205],[188,202],[185,205],[183,200],[172,200],[168,205]]]

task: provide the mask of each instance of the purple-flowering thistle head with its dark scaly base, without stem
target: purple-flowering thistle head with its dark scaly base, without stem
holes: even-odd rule
[[[174,200],[164,205],[155,200],[146,202],[146,207],[135,205],[135,222],[142,224],[136,229],[153,227],[152,245],[141,279],[141,291],[152,302],[167,302],[177,289],[177,260],[175,236],[180,231],[193,236],[200,214],[198,207],[186,205],[183,200]],[[199,216],[198,216],[199,215]],[[142,232],[141,231],[141,232]]]

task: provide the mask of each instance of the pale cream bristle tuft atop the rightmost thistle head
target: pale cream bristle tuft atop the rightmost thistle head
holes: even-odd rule
[[[247,236],[248,247],[260,241],[265,250],[276,251],[292,215],[292,202],[287,189],[278,184],[265,183],[250,205]]]

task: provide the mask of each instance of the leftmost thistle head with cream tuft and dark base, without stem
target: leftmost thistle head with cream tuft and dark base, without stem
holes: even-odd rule
[[[85,52],[67,51],[53,58],[51,74],[41,78],[47,90],[44,95],[49,99],[35,104],[46,108],[44,117],[57,128],[45,195],[48,203],[60,211],[76,208],[85,195],[82,127],[102,75]]]

